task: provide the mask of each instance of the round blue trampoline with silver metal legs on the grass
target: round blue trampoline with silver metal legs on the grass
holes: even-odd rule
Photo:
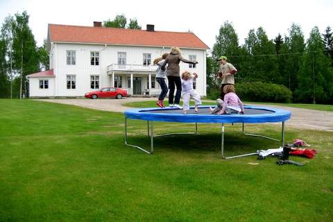
[[[164,137],[168,135],[180,135],[180,134],[197,134],[198,123],[220,123],[221,124],[221,155],[224,159],[230,159],[234,157],[244,157],[247,155],[255,155],[257,153],[246,153],[243,155],[234,155],[226,157],[224,153],[224,133],[225,123],[242,123],[242,133],[244,135],[262,137],[265,139],[272,139],[277,142],[281,142],[281,146],[284,144],[284,121],[287,121],[291,117],[291,112],[287,110],[280,110],[275,108],[266,108],[258,106],[244,106],[244,114],[211,114],[210,106],[201,105],[198,112],[194,112],[194,107],[191,107],[187,114],[182,114],[182,110],[178,108],[140,108],[131,109],[124,112],[125,115],[125,144],[138,148],[145,153],[153,154],[154,151],[154,138]],[[147,135],[151,139],[151,150],[146,149],[128,143],[128,119],[139,119],[147,121]],[[193,133],[169,133],[164,135],[154,135],[153,123],[154,121],[165,122],[180,122],[180,123],[195,123],[195,130]],[[273,139],[264,135],[255,135],[245,133],[244,123],[277,123],[281,122],[281,139]]]

